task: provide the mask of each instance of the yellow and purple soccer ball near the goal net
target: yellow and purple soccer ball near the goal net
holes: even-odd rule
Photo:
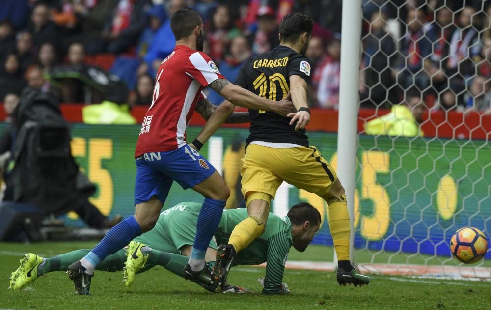
[[[450,239],[450,251],[464,264],[480,261],[488,250],[488,240],[483,232],[474,227],[463,227]]]

